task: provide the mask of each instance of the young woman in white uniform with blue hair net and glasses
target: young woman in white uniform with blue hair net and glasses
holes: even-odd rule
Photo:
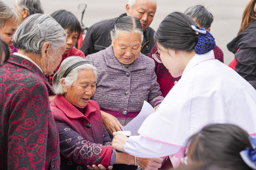
[[[224,30],[225,31],[225,30]],[[211,123],[235,124],[256,134],[256,91],[233,69],[214,59],[213,36],[181,12],[169,14],[154,34],[160,57],[173,77],[182,76],[157,111],[146,118],[140,136],[114,132],[112,147],[153,158],[176,153]]]

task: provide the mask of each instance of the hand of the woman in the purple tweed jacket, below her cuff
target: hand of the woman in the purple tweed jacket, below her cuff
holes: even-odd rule
[[[109,113],[100,111],[102,115],[102,120],[105,128],[107,129],[108,134],[112,135],[113,132],[122,131],[121,123],[115,118],[115,116],[110,115]]]

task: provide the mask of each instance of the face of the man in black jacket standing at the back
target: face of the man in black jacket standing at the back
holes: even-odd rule
[[[138,18],[143,30],[145,30],[153,21],[156,9],[157,6],[154,0],[136,0],[132,9],[127,10],[127,16]]]

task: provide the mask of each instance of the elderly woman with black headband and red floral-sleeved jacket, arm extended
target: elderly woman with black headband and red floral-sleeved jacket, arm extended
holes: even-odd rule
[[[135,164],[134,156],[115,152],[111,147],[99,104],[90,100],[96,90],[96,80],[96,68],[79,56],[66,58],[54,74],[56,96],[50,107],[60,137],[62,170]],[[137,164],[144,169],[158,169],[162,160],[137,158]]]

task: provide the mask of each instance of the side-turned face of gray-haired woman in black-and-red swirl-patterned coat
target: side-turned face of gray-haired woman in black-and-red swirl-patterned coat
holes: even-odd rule
[[[48,75],[53,74],[57,66],[60,64],[64,49],[65,49],[65,46],[60,47],[60,49],[58,49],[59,52],[55,53],[55,55],[53,50],[51,48],[49,49],[49,53],[46,56],[46,62],[47,62],[46,72]]]

